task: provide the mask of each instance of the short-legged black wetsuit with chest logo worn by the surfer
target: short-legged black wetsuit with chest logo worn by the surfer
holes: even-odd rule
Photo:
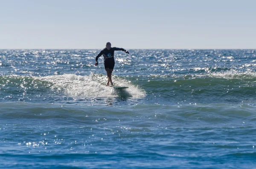
[[[113,70],[115,66],[114,51],[126,51],[126,50],[123,48],[116,48],[116,47],[113,47],[109,50],[107,48],[104,48],[101,52],[99,52],[95,60],[98,61],[98,58],[103,54],[105,69],[109,68]]]

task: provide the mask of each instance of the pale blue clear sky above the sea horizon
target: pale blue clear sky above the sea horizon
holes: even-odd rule
[[[0,0],[0,49],[256,49],[255,0]]]

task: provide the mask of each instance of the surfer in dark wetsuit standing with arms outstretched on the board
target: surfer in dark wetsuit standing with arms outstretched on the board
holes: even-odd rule
[[[96,56],[96,59],[95,59],[96,60],[95,66],[98,66],[98,58],[103,54],[104,66],[108,76],[108,83],[106,86],[109,86],[109,82],[111,83],[111,86],[113,86],[111,76],[115,66],[114,51],[124,51],[125,53],[129,54],[129,52],[123,48],[116,48],[116,47],[111,48],[111,43],[107,42],[106,48],[104,48],[101,52],[99,52],[99,54]]]

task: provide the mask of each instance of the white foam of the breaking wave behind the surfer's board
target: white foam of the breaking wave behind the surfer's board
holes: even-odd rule
[[[76,74],[52,75],[46,77],[34,77],[38,80],[47,81],[53,84],[53,87],[64,92],[70,97],[118,97],[119,93],[113,88],[105,86],[108,81],[107,76],[103,74],[90,74],[80,76]],[[135,86],[130,81],[118,76],[112,76],[115,86],[127,86],[125,92],[129,97],[145,97],[145,91]]]

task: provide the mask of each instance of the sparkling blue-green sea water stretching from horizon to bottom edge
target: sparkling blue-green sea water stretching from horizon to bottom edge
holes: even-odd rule
[[[0,50],[0,168],[256,168],[256,50]]]

